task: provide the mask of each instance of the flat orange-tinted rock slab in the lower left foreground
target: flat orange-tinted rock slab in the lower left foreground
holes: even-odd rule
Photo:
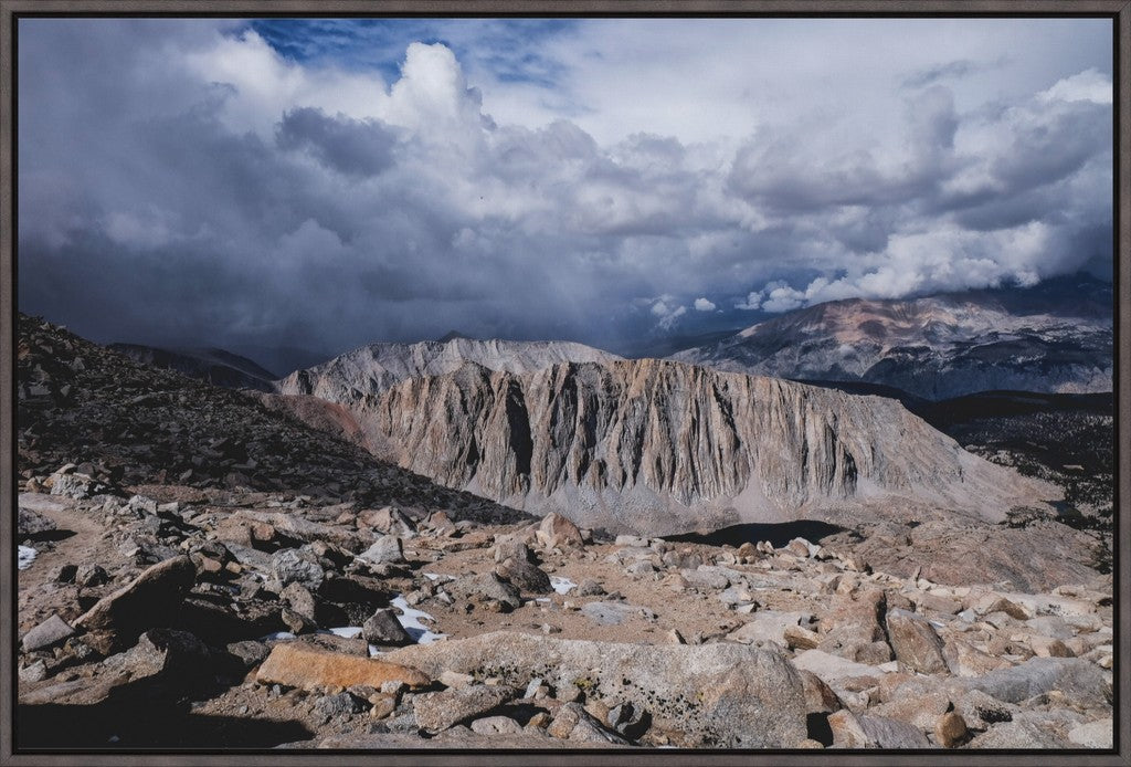
[[[347,688],[366,684],[380,688],[385,682],[424,687],[432,680],[415,669],[396,663],[344,653],[327,653],[294,644],[276,645],[256,679],[265,684],[286,684],[304,690]]]

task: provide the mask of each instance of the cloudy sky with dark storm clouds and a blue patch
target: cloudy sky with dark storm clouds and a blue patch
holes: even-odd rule
[[[19,19],[19,308],[100,342],[623,351],[1110,279],[1111,25]]]

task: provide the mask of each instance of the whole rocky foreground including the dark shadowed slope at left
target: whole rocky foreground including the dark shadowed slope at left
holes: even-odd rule
[[[19,330],[17,748],[1111,747],[1056,522],[613,537]]]

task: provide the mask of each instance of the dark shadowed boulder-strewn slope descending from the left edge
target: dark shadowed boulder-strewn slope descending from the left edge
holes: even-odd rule
[[[521,515],[424,477],[232,391],[153,368],[20,314],[17,437],[21,476],[80,467],[76,484],[175,481],[290,490],[406,506],[442,502],[482,518]]]

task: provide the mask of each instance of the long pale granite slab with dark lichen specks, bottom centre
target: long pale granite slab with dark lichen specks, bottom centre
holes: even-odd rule
[[[543,679],[602,699],[630,701],[682,746],[792,748],[806,738],[801,675],[775,650],[741,645],[630,645],[497,631],[405,647],[390,663],[432,678],[498,676],[525,688]]]

